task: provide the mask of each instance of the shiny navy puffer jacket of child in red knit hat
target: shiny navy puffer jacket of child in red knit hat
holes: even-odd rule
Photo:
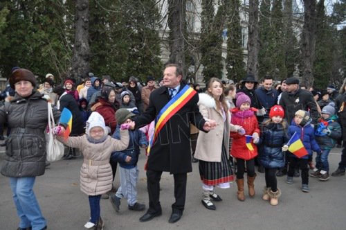
[[[282,145],[289,141],[286,129],[281,123],[268,123],[262,127],[261,137],[258,145],[263,145],[263,152],[259,154],[260,161],[264,168],[282,168],[284,167],[284,153]]]

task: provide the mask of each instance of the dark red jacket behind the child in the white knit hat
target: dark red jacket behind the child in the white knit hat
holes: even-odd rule
[[[104,123],[111,128],[112,134],[116,131],[116,108],[108,100],[98,98],[98,102],[91,107],[91,111],[98,112],[104,118]]]

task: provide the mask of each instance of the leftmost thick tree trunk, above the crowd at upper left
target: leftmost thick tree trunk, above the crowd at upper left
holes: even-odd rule
[[[75,78],[89,73],[89,1],[76,0],[75,44],[73,46],[72,74]]]

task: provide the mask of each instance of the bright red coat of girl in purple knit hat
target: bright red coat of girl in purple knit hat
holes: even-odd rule
[[[260,128],[258,127],[257,118],[255,116],[257,109],[251,107],[249,110],[243,112],[238,108],[234,108],[231,109],[230,112],[232,112],[232,120],[230,123],[242,126],[245,130],[245,135],[252,135],[254,132],[260,135]],[[230,136],[233,138],[230,154],[235,158],[247,161],[257,156],[257,146],[251,141],[253,151],[248,150],[246,147],[245,135],[240,135],[237,132],[230,132]]]

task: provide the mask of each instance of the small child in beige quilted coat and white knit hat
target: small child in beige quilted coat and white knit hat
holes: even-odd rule
[[[86,122],[86,134],[83,136],[69,136],[64,139],[64,128],[55,128],[57,139],[71,148],[79,148],[84,156],[80,169],[80,190],[89,196],[91,218],[84,227],[92,230],[102,230],[104,223],[100,217],[101,195],[112,187],[112,171],[109,159],[111,152],[125,150],[129,145],[129,129],[134,123],[120,127],[120,140],[108,135],[104,125],[104,118],[93,112]]]

